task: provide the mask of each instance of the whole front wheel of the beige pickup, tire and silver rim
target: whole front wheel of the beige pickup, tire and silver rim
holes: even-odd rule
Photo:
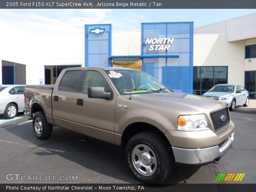
[[[173,158],[170,144],[160,134],[138,133],[126,146],[126,162],[138,180],[143,183],[161,183],[172,172]],[[135,166],[136,163],[138,166]],[[145,166],[150,167],[148,173]]]

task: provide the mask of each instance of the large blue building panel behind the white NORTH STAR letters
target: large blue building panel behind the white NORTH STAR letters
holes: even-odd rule
[[[193,91],[193,22],[164,22],[141,24],[141,55],[166,55],[166,58],[144,58],[142,70],[166,87],[192,93]],[[149,50],[150,38],[174,38],[169,50]],[[179,55],[179,58],[168,58]]]

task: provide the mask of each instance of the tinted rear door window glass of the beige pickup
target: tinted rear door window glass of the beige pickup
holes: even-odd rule
[[[67,71],[60,82],[59,90],[76,91],[76,84],[81,71]]]

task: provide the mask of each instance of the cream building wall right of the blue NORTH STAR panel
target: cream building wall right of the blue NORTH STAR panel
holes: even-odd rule
[[[228,83],[244,85],[244,41],[224,34],[194,35],[194,66],[228,66]]]

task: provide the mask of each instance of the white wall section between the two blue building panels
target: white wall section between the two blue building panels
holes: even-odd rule
[[[112,55],[140,55],[141,32],[112,32]]]

